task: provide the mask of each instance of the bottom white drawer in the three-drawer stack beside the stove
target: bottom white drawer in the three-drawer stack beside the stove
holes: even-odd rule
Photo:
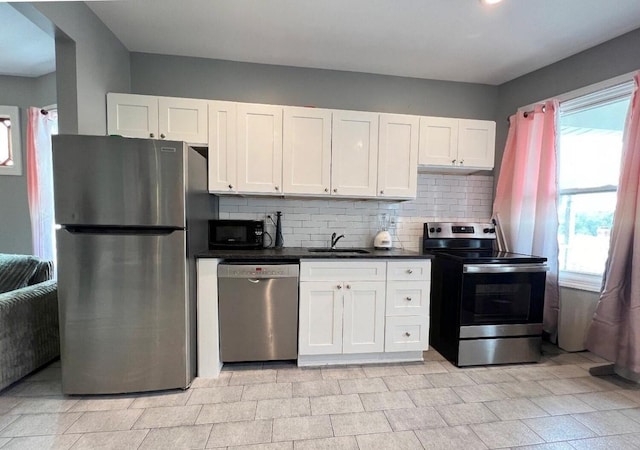
[[[384,335],[385,352],[427,350],[428,348],[428,316],[387,317]]]

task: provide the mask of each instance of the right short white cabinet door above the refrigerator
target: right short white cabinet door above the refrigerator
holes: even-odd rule
[[[207,145],[207,102],[190,98],[158,98],[161,139]]]

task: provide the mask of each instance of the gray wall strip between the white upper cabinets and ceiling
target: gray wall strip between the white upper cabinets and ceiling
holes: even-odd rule
[[[496,86],[131,53],[131,92],[493,120]]]

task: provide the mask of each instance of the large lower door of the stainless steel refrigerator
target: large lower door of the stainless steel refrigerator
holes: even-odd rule
[[[62,390],[185,388],[192,378],[185,232],[58,230]]]

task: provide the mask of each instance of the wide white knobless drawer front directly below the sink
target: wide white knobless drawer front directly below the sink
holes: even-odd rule
[[[300,261],[300,281],[385,281],[382,261]]]

